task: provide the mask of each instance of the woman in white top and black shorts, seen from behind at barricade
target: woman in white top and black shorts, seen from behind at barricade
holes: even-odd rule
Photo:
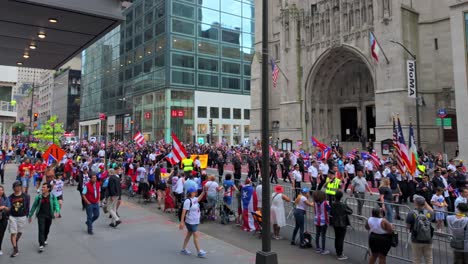
[[[372,216],[366,223],[366,229],[370,231],[369,248],[371,257],[369,264],[374,264],[379,259],[379,264],[386,262],[388,251],[392,247],[393,225],[382,218],[382,209],[374,208]]]

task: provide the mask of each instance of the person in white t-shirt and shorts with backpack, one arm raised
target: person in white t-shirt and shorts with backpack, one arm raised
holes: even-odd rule
[[[203,189],[203,192],[200,196],[196,197],[198,190],[197,188],[190,187],[187,190],[187,199],[184,201],[181,220],[179,229],[183,230],[184,226],[187,228],[187,235],[184,239],[184,244],[182,246],[182,250],[180,251],[183,255],[190,255],[192,254],[187,249],[187,244],[190,241],[190,238],[193,236],[193,244],[197,249],[197,256],[200,258],[204,258],[206,256],[206,252],[200,248],[198,243],[198,225],[200,224],[200,201],[205,196],[206,187]]]

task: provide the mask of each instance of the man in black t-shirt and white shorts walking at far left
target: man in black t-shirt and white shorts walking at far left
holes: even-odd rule
[[[23,234],[24,226],[28,221],[29,214],[29,195],[23,193],[20,181],[13,183],[13,193],[8,197],[11,204],[10,217],[8,218],[9,230],[11,234],[11,244],[13,252],[10,257],[18,256],[18,242]]]

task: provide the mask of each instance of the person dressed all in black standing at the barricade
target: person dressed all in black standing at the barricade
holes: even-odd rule
[[[341,202],[343,192],[337,191],[335,202],[331,205],[330,224],[335,229],[335,250],[338,260],[347,260],[348,257],[343,255],[343,244],[346,236],[346,228],[351,225],[349,215],[353,214],[353,210],[346,204]]]

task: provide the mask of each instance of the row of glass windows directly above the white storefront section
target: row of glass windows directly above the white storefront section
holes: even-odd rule
[[[195,85],[195,73],[194,72],[185,72],[172,70],[171,71],[171,83],[194,86]],[[250,91],[250,79],[243,80],[244,91]],[[207,88],[219,88],[219,76],[198,73],[198,86],[207,87]],[[241,90],[241,78],[234,76],[221,76],[221,88],[223,89],[232,89],[232,90]]]

